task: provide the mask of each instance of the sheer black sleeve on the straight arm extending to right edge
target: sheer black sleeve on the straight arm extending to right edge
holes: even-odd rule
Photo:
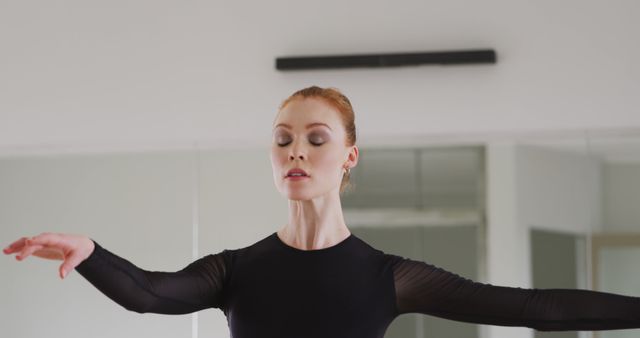
[[[640,327],[640,298],[580,289],[482,284],[425,262],[393,256],[398,314],[423,313],[540,331]]]

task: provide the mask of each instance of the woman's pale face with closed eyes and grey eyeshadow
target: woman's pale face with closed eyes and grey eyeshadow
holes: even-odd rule
[[[346,145],[339,114],[321,98],[297,98],[276,116],[271,166],[276,187],[288,199],[310,200],[339,192],[344,168],[357,163],[358,149]],[[308,176],[287,177],[294,168]]]

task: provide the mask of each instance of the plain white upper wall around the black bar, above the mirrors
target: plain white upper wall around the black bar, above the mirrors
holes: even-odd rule
[[[3,1],[0,148],[263,145],[342,88],[362,140],[640,127],[637,1]],[[495,65],[277,72],[283,55],[495,48]],[[26,147],[26,148],[25,148]]]

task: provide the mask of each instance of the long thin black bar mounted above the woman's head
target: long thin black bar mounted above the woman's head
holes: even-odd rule
[[[278,70],[496,63],[493,49],[276,58]]]

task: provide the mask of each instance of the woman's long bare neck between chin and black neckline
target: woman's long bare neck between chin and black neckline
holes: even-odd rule
[[[350,234],[344,222],[340,198],[335,196],[289,200],[289,222],[278,231],[282,241],[301,250],[331,247]]]

